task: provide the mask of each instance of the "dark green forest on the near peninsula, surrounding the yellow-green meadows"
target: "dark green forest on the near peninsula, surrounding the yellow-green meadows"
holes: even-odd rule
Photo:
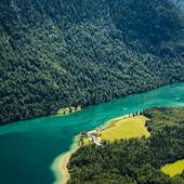
[[[160,168],[184,159],[184,108],[150,108],[149,139],[88,145],[70,158],[69,184],[184,184],[184,172],[169,178]]]

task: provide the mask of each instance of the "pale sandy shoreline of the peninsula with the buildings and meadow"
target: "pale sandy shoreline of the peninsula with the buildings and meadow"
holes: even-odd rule
[[[132,117],[133,114],[123,115],[117,118],[113,118],[103,123],[104,129],[108,128],[113,122]],[[91,130],[89,132],[92,132]],[[51,170],[54,173],[55,181],[53,184],[67,184],[69,180],[68,163],[70,156],[79,148],[79,135],[76,135],[69,150],[56,157],[51,166]]]

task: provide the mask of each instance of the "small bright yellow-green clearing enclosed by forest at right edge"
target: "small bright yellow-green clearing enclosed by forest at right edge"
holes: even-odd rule
[[[161,168],[161,171],[171,178],[176,174],[181,174],[184,171],[184,160],[179,160],[174,163],[166,165]]]

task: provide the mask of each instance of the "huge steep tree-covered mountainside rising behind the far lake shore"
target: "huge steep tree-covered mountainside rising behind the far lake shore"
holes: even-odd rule
[[[169,0],[1,0],[0,123],[184,80]]]

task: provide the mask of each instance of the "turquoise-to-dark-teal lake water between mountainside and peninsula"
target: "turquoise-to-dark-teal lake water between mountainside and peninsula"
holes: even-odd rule
[[[69,149],[76,134],[152,106],[184,106],[184,83],[90,106],[65,117],[0,127],[0,184],[52,184],[51,165]]]

